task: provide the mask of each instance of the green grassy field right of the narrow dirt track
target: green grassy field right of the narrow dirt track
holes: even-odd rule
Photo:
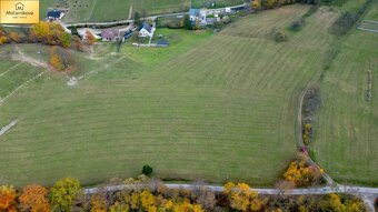
[[[378,3],[362,19],[374,20]],[[315,149],[318,162],[339,183],[378,184],[378,33],[354,29],[320,84]],[[371,101],[366,101],[368,70]]]

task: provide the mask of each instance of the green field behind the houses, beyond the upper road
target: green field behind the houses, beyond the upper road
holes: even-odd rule
[[[43,0],[40,1],[40,17],[44,19],[48,8],[69,8],[70,12],[64,17],[64,22],[94,22],[126,20],[129,18],[130,8],[132,14],[138,11],[146,16],[182,12],[189,8],[201,8],[208,2],[215,2],[216,7],[241,4],[242,0]]]

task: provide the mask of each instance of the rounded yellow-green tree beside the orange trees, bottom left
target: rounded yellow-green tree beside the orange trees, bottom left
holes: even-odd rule
[[[73,201],[80,194],[80,182],[73,178],[64,178],[51,188],[51,206],[54,212],[70,212]]]

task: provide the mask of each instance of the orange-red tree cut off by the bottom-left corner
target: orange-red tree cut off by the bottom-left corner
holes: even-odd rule
[[[16,196],[17,196],[17,192],[12,186],[1,185],[0,186],[0,211],[1,212],[16,212],[17,211]]]

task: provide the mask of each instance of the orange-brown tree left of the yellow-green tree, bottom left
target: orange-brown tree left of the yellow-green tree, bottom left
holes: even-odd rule
[[[48,190],[41,185],[28,185],[22,189],[20,195],[20,206],[22,211],[49,212],[50,203],[47,199]]]

